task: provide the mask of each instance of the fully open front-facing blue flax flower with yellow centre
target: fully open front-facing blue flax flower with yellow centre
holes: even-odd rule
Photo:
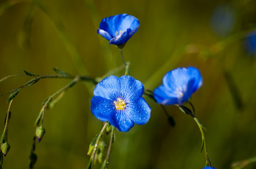
[[[108,121],[121,132],[134,123],[142,125],[151,117],[151,107],[142,98],[144,86],[132,76],[109,76],[94,88],[91,112],[100,121]]]

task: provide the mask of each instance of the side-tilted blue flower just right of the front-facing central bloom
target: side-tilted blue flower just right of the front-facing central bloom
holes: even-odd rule
[[[197,68],[176,68],[163,78],[163,84],[153,91],[159,104],[183,104],[203,84]]]

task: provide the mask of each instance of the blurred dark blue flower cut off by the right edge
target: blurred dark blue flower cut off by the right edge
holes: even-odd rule
[[[244,47],[248,54],[256,56],[256,31],[250,32],[246,35]]]

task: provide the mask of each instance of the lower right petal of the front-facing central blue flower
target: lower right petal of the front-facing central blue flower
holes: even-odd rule
[[[144,98],[139,98],[137,101],[128,104],[125,113],[128,114],[131,121],[142,125],[147,123],[149,118],[151,118],[151,107],[149,107]]]

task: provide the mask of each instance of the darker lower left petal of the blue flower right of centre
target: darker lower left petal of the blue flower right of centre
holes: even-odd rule
[[[174,93],[174,91],[168,90],[163,84],[153,91],[153,96],[158,104],[180,104],[182,100],[179,93]]]

